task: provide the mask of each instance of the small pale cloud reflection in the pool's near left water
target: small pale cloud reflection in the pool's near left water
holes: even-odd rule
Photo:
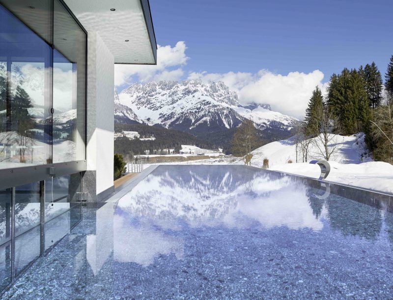
[[[118,262],[148,266],[160,254],[184,256],[184,240],[157,231],[150,221],[131,224],[126,217],[115,214],[113,219],[113,257]]]

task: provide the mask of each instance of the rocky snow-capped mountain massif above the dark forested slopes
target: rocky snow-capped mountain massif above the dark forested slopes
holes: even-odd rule
[[[240,105],[236,92],[223,82],[205,84],[186,80],[132,84],[118,96],[115,94],[115,104],[118,107],[115,115],[131,115],[129,108],[140,121],[150,125],[158,123],[196,134],[235,128],[245,119],[253,120],[261,130],[288,131],[297,121],[271,111],[268,104]],[[130,120],[136,118],[133,116]]]

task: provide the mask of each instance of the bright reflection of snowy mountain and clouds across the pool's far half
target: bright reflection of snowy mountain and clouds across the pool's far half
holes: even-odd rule
[[[309,206],[304,185],[294,185],[289,177],[270,177],[255,172],[249,180],[231,179],[231,172],[203,175],[189,173],[185,182],[177,174],[150,174],[118,206],[140,216],[168,221],[181,217],[192,226],[245,228],[258,221],[266,228],[287,226],[290,229],[321,230]],[[214,184],[212,184],[214,182]]]

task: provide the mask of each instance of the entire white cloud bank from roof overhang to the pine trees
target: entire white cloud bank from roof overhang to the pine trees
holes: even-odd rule
[[[175,46],[158,46],[157,65],[115,65],[115,85],[131,84],[133,81],[147,82],[159,80],[179,81],[184,78],[183,66],[189,58],[185,42]],[[309,98],[315,86],[326,90],[322,82],[324,74],[319,70],[310,73],[290,72],[276,74],[262,69],[257,73],[228,72],[207,73],[190,72],[189,80],[200,79],[205,82],[223,81],[231,90],[238,92],[242,104],[250,102],[268,103],[272,110],[303,119]]]

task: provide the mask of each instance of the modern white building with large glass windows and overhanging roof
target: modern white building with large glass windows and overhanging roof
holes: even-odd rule
[[[114,63],[156,62],[147,0],[0,0],[0,290],[114,191]]]

